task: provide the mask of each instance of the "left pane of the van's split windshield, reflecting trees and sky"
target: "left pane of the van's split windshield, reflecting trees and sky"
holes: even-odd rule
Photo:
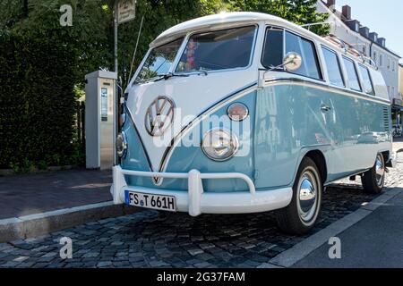
[[[167,74],[183,41],[184,38],[178,38],[173,42],[152,49],[142,65],[136,81],[150,80]]]

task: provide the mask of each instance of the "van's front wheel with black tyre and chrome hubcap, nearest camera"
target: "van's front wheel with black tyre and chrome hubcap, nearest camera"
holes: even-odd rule
[[[291,203],[277,211],[279,229],[298,235],[311,231],[321,211],[322,189],[318,167],[305,157],[296,174]]]

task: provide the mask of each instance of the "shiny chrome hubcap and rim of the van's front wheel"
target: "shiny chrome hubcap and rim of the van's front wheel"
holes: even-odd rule
[[[312,171],[305,171],[298,184],[298,211],[301,219],[310,222],[315,213],[318,200],[318,186]]]

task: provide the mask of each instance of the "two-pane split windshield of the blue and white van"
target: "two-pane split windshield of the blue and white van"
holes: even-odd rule
[[[189,38],[175,73],[219,71],[247,67],[251,60],[255,26],[195,34]],[[166,75],[184,38],[154,48],[136,81]]]

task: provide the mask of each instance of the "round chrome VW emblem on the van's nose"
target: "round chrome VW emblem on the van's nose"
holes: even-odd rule
[[[151,102],[144,125],[151,136],[161,136],[174,121],[175,104],[168,97],[157,97]]]

